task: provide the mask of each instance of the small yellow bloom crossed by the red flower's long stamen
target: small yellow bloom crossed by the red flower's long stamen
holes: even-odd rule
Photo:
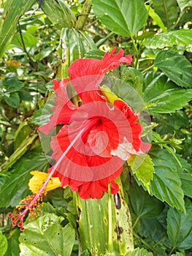
[[[34,194],[37,194],[39,192],[39,189],[42,187],[44,182],[46,181],[47,177],[49,176],[49,173],[43,173],[39,170],[33,170],[31,171],[31,174],[33,175],[32,178],[30,178],[28,182],[28,187]],[[47,184],[47,187],[45,188],[45,193],[47,191],[56,189],[60,187],[61,181],[58,177],[53,177],[50,179],[50,181]]]

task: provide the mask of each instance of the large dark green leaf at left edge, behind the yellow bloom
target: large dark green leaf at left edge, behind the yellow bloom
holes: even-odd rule
[[[20,200],[30,193],[28,181],[31,178],[31,170],[45,171],[48,167],[49,162],[42,151],[37,148],[28,151],[12,166],[10,176],[0,179],[0,207],[17,206]]]

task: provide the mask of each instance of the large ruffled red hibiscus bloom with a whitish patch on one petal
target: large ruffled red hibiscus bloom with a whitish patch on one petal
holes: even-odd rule
[[[105,72],[131,61],[131,56],[123,57],[122,49],[115,54],[114,48],[101,60],[74,61],[68,69],[70,78],[53,80],[53,114],[39,130],[48,134],[58,124],[63,127],[51,138],[56,163],[49,171],[55,170],[53,176],[60,178],[61,186],[69,185],[82,198],[101,198],[109,183],[112,194],[118,192],[115,178],[120,175],[123,162],[131,154],[150,148],[140,138],[142,126],[137,113],[121,99],[111,105],[99,89]],[[77,105],[67,94],[69,83],[80,97]]]

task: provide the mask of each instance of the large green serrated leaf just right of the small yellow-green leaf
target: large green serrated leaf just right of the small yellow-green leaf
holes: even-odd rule
[[[155,195],[162,202],[165,201],[169,206],[185,211],[184,193],[174,157],[158,147],[150,150],[150,157],[155,167],[153,181],[150,182],[151,195]]]

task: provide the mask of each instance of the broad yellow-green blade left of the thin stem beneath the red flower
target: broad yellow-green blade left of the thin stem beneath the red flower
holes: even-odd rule
[[[74,193],[80,248],[91,255],[104,255],[108,242],[107,194],[101,199],[81,199]]]

